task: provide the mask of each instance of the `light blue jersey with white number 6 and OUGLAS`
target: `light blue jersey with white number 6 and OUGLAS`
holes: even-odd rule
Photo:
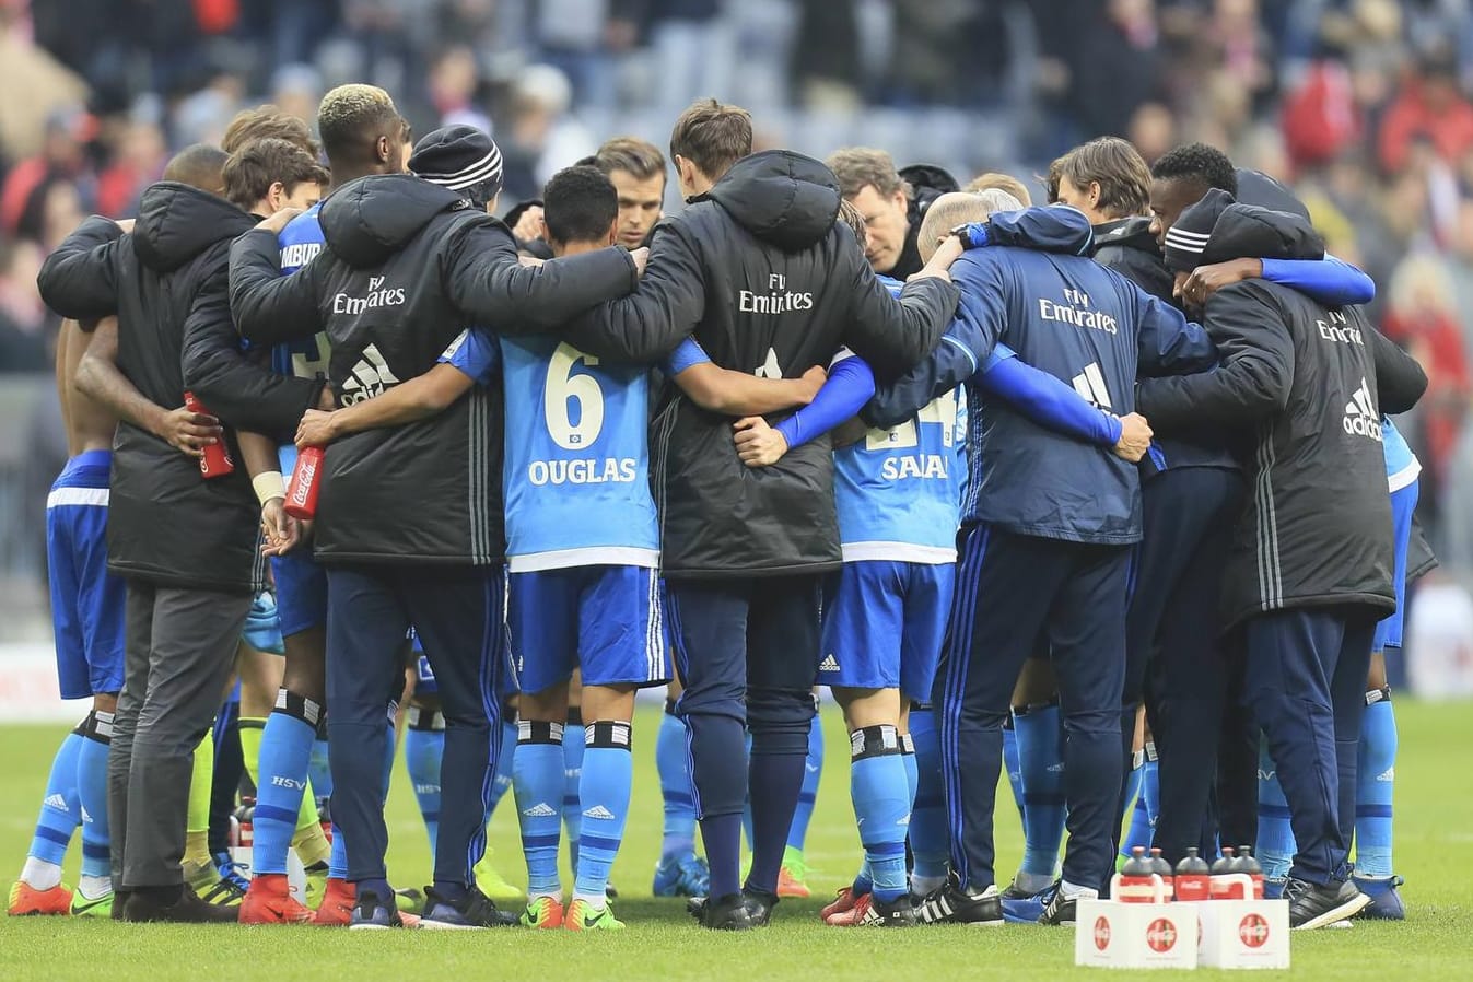
[[[479,378],[495,346],[470,331],[446,361]],[[554,339],[502,339],[499,361],[510,570],[658,567],[645,370],[602,365]]]

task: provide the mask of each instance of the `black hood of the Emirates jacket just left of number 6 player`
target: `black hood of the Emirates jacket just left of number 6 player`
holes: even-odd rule
[[[440,212],[468,208],[464,194],[411,174],[361,177],[323,202],[323,239],[348,265],[377,266]]]

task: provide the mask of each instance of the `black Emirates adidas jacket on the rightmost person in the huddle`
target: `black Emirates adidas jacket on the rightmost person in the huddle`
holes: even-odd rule
[[[1323,252],[1304,219],[1233,205],[1202,262]],[[1137,408],[1162,425],[1196,420],[1252,433],[1252,492],[1224,571],[1224,626],[1286,608],[1392,612],[1380,417],[1410,409],[1427,377],[1360,308],[1324,308],[1262,280],[1218,290],[1203,322],[1223,355],[1218,370],[1145,380]]]

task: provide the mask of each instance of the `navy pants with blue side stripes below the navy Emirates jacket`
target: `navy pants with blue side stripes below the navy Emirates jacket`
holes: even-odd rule
[[[1119,695],[1125,671],[1128,546],[962,530],[952,646],[937,676],[937,729],[962,885],[994,882],[993,807],[1003,720],[1024,661],[1049,642],[1068,738],[1069,842],[1064,879],[1094,888],[1112,869],[1111,827],[1121,783]]]

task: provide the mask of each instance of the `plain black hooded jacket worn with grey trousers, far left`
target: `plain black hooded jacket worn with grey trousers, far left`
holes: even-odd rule
[[[224,199],[161,181],[143,193],[131,234],[103,218],[82,222],[41,268],[41,296],[63,317],[118,314],[118,368],[150,402],[178,408],[189,387],[181,364],[187,339],[197,337],[197,325],[218,327],[212,305],[219,302],[230,241],[253,224]],[[318,387],[275,381],[286,384],[253,390],[255,418],[295,427]],[[113,573],[164,586],[250,590],[258,520],[239,453],[233,474],[205,480],[194,459],[152,433],[118,424],[108,514]]]

